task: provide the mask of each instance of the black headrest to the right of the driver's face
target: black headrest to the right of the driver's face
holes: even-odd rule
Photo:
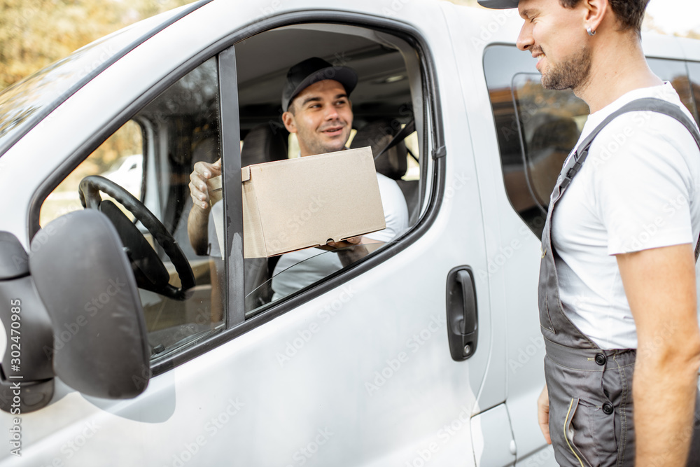
[[[401,130],[397,120],[375,120],[367,123],[357,131],[357,134],[350,144],[350,148],[363,148],[370,146],[372,154],[376,157],[379,151],[389,144],[394,135]],[[400,141],[396,146],[385,151],[384,154],[374,160],[374,167],[382,175],[390,179],[398,180],[406,174],[406,144]]]

